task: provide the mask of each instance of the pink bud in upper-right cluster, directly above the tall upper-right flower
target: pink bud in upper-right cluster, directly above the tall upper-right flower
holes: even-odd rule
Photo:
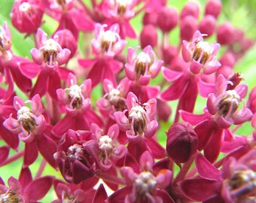
[[[193,16],[184,17],[181,20],[181,40],[190,41],[197,31],[197,19]]]

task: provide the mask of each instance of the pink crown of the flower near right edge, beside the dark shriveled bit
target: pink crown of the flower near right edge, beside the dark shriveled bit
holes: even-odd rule
[[[227,85],[227,80],[220,74],[216,81],[215,93],[210,93],[207,100],[207,109],[214,115],[213,120],[221,128],[244,123],[252,117],[251,111],[245,105],[239,108],[247,93],[247,85],[239,84],[230,90],[227,90]]]

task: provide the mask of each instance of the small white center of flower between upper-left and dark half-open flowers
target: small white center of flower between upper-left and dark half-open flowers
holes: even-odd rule
[[[69,90],[69,103],[70,106],[75,108],[81,108],[83,105],[83,95],[82,95],[82,89],[81,86],[78,85],[72,85],[68,88]]]

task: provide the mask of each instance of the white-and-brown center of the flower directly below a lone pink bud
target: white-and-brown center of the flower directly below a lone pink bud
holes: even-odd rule
[[[136,59],[135,71],[137,77],[144,75],[148,71],[149,66],[151,65],[151,57],[148,53],[141,52],[138,54]]]

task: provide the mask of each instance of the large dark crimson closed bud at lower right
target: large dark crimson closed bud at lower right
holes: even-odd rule
[[[197,145],[197,133],[190,123],[175,123],[169,128],[166,150],[174,162],[187,162],[196,153]]]

